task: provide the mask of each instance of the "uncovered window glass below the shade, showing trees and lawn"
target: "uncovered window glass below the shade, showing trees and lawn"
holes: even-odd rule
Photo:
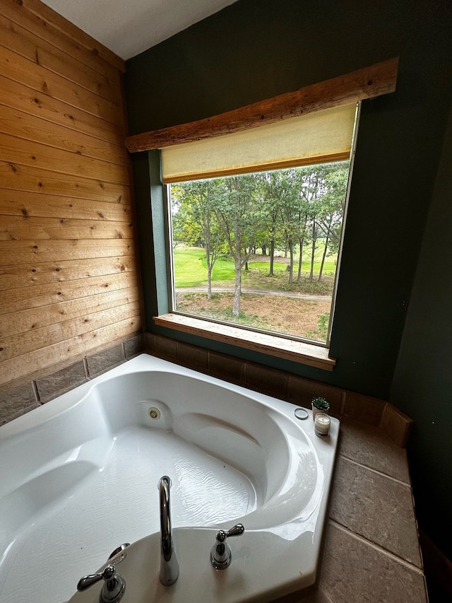
[[[349,168],[171,185],[173,310],[326,344]]]

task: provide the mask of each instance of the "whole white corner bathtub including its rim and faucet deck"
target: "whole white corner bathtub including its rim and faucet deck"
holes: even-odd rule
[[[264,602],[311,585],[338,421],[319,438],[295,408],[143,354],[2,426],[0,601],[97,603],[101,585],[74,595],[78,579],[125,542],[123,603]],[[162,475],[171,587],[158,580]],[[215,533],[237,522],[232,564],[215,570]]]

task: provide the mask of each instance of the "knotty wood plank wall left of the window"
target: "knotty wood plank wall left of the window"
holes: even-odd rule
[[[124,62],[0,0],[0,385],[141,330]]]

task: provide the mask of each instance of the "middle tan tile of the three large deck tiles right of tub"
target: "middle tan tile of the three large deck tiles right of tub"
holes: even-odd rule
[[[339,457],[330,517],[422,568],[410,486]]]

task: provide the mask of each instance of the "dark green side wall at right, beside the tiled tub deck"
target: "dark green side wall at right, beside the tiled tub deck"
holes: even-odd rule
[[[391,401],[415,419],[412,478],[422,526],[452,558],[452,112],[417,264]]]

